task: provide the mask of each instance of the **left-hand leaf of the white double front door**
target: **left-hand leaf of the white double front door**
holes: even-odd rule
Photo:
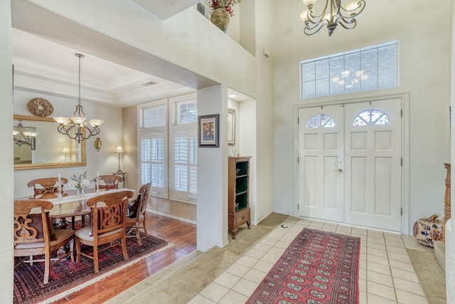
[[[343,107],[299,110],[299,216],[343,221]]]

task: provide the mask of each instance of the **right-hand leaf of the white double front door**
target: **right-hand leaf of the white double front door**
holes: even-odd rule
[[[346,223],[401,231],[400,99],[345,105]]]

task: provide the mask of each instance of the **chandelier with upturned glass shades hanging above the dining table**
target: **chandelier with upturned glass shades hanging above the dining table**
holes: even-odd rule
[[[92,126],[90,129],[85,121],[85,112],[82,110],[82,104],[80,103],[80,58],[84,58],[82,54],[75,54],[79,58],[79,98],[77,100],[76,110],[73,113],[73,117],[54,117],[54,120],[58,122],[57,130],[63,135],[68,135],[73,140],[77,140],[78,143],[81,140],[87,140],[87,138],[100,134],[100,125],[102,120],[89,120],[89,124]]]

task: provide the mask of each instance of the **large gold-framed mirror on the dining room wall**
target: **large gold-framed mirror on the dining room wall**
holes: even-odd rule
[[[77,143],[57,130],[52,118],[14,115],[14,130],[18,123],[23,131],[38,135],[30,142],[14,146],[14,169],[48,169],[85,166],[85,140]]]

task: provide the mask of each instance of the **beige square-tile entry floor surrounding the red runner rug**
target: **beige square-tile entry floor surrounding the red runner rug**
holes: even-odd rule
[[[283,224],[288,228],[274,229],[189,303],[245,303],[304,227],[361,239],[360,304],[427,303],[406,252],[406,248],[424,250],[412,236],[294,217]]]

